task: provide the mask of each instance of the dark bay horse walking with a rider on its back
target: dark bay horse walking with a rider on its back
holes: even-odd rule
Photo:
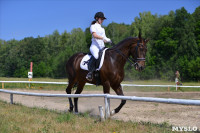
[[[105,52],[105,59],[102,68],[100,69],[101,85],[104,93],[110,93],[110,87],[117,95],[124,95],[121,87],[121,82],[124,79],[124,65],[127,62],[132,63],[135,69],[141,71],[145,68],[145,55],[147,52],[146,43],[148,41],[139,37],[126,38]],[[71,56],[66,64],[69,84],[66,88],[67,94],[71,94],[71,90],[77,84],[75,94],[80,94],[83,91],[85,83],[96,84],[95,78],[92,81],[86,79],[88,71],[80,68],[81,59],[85,56],[84,53],[77,53]],[[131,58],[132,57],[132,58]],[[121,104],[112,111],[112,114],[118,113],[124,106],[126,100],[122,100]],[[75,106],[75,113],[78,113],[78,98],[69,98],[70,108],[72,112]]]

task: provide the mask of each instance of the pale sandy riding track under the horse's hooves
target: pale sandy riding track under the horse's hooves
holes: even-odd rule
[[[65,94],[65,91],[16,91]],[[102,92],[83,91],[82,94],[102,94]],[[200,99],[200,92],[124,92],[124,94],[127,96]],[[0,93],[0,99],[9,102],[9,94]],[[21,103],[28,107],[43,107],[59,111],[67,111],[69,108],[67,98],[14,95],[14,102]],[[111,100],[111,110],[115,109],[119,104],[120,100]],[[91,115],[99,115],[99,105],[104,106],[103,98],[80,98],[79,112],[89,112]],[[122,110],[118,114],[112,116],[112,119],[131,120],[134,122],[166,122],[173,126],[196,126],[200,128],[200,106],[127,101]]]

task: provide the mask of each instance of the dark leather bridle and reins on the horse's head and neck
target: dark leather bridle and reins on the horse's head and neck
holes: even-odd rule
[[[138,61],[145,61],[145,58],[138,58],[138,47],[140,46],[140,40],[137,41],[137,46],[135,47],[135,58],[132,57],[126,57],[126,55],[124,55],[119,49],[116,49],[115,51],[117,53],[119,53],[123,58],[125,58],[126,60],[128,60],[128,62],[131,64],[131,66],[139,66]],[[143,45],[143,43],[141,44]]]

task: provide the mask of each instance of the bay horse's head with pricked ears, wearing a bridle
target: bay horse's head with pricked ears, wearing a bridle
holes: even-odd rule
[[[144,40],[139,33],[139,36],[135,43],[131,45],[130,53],[135,62],[135,69],[142,71],[145,68],[145,56],[147,52],[147,42],[149,40]]]

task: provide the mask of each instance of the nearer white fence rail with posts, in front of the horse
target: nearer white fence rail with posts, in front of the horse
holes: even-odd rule
[[[170,104],[183,104],[183,105],[198,105],[200,100],[189,99],[171,99],[171,98],[154,98],[154,97],[137,97],[137,96],[116,96],[110,94],[49,94],[49,93],[32,93],[32,92],[19,92],[0,89],[0,92],[10,94],[10,103],[13,104],[13,95],[27,95],[27,96],[42,96],[42,97],[103,97],[105,100],[105,118],[110,117],[110,99],[123,99],[132,101],[145,101],[145,102],[158,102]],[[100,112],[102,114],[102,112]]]

